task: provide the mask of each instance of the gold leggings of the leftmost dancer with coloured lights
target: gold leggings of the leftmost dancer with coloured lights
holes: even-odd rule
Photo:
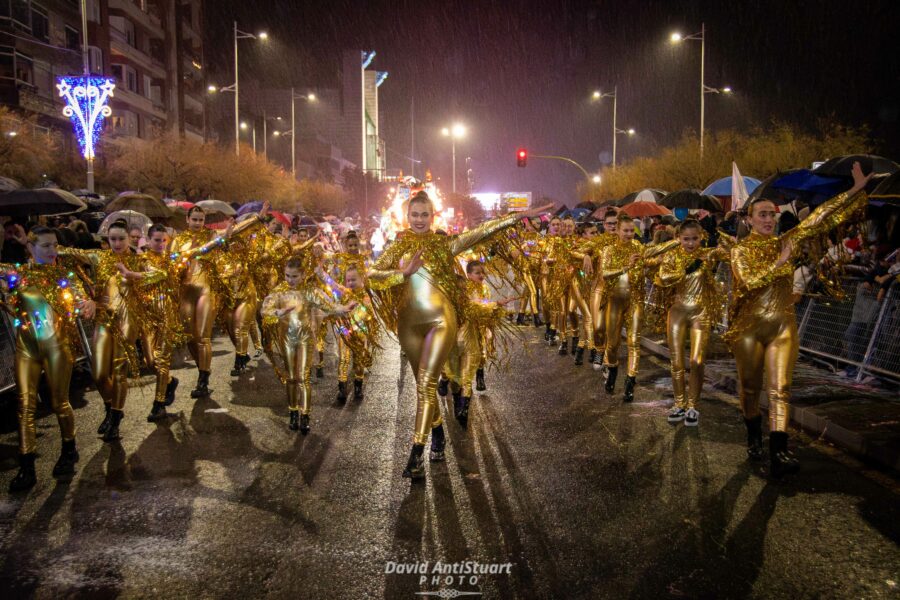
[[[69,404],[69,382],[74,357],[69,344],[58,336],[45,340],[16,339],[16,385],[19,388],[19,452],[36,450],[34,413],[41,371],[47,373],[50,404],[56,413],[59,432],[64,442],[75,439],[75,413]]]

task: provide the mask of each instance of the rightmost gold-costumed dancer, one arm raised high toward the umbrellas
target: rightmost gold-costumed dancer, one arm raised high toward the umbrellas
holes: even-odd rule
[[[804,240],[826,235],[863,210],[868,198],[861,192],[871,177],[863,175],[859,163],[854,164],[853,187],[849,191],[824,202],[781,236],[774,234],[775,204],[765,199],[753,202],[748,215],[752,231],[731,250],[734,285],[725,339],[737,362],[747,453],[754,460],[763,455],[759,394],[765,369],[770,473],[775,477],[799,468],[799,462],[788,451],[787,434],[791,379],[799,352],[791,299],[792,258]]]

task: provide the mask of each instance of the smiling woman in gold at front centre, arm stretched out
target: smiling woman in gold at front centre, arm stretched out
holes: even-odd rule
[[[549,205],[541,210],[546,208]],[[455,256],[511,227],[518,219],[539,212],[509,215],[446,237],[431,231],[434,206],[428,195],[420,192],[409,201],[409,229],[397,236],[370,270],[370,280],[396,284],[380,291],[376,310],[397,333],[416,378],[415,435],[404,477],[425,477],[423,453],[429,432],[433,434],[432,448],[443,451],[444,431],[436,386],[456,344],[457,319],[466,305],[465,291],[454,267]]]

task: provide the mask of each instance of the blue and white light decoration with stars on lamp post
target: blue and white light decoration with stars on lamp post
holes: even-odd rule
[[[68,75],[58,77],[56,88],[65,100],[63,114],[72,120],[81,154],[94,159],[94,147],[100,139],[103,119],[112,114],[109,99],[116,84],[108,77]]]

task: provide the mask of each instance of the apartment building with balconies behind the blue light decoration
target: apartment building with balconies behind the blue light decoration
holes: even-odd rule
[[[0,0],[0,103],[65,127],[56,77],[83,70],[79,0]],[[205,138],[202,0],[87,0],[92,74],[116,80],[108,135]]]

